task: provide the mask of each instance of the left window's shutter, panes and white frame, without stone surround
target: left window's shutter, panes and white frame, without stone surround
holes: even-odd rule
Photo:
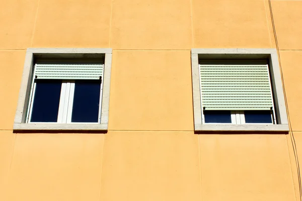
[[[37,62],[27,123],[100,123],[104,64]]]

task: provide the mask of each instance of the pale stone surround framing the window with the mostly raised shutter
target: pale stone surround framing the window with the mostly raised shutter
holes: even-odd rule
[[[105,56],[103,94],[101,106],[101,121],[99,124],[90,123],[26,123],[27,109],[31,92],[32,73],[34,59],[59,58],[59,59],[92,59]],[[28,48],[25,56],[25,63],[19,92],[19,99],[15,114],[14,131],[26,130],[55,130],[55,131],[107,131],[109,119],[109,99],[111,80],[111,48]]]

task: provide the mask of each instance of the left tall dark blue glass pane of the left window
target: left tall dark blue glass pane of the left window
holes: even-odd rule
[[[31,122],[57,122],[62,80],[37,80]]]

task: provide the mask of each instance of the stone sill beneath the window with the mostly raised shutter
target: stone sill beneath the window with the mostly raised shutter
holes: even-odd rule
[[[32,130],[86,130],[86,131],[107,131],[108,124],[86,124],[86,123],[72,123],[72,124],[60,124],[60,123],[15,123],[14,131],[32,131]]]

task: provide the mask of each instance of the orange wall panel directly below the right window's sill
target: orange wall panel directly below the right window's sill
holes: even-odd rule
[[[295,200],[286,135],[200,134],[202,200]]]

